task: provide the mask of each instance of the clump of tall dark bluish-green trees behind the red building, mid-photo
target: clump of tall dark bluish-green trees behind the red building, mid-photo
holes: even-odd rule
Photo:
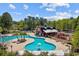
[[[29,30],[34,30],[37,26],[44,26],[47,24],[47,19],[40,17],[28,16],[24,19],[24,21],[27,24],[27,28]]]

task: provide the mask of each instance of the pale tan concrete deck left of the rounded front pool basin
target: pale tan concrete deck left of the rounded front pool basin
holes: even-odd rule
[[[17,40],[17,39],[15,39],[15,40]],[[10,41],[9,44],[8,44],[8,46],[7,46],[8,47],[7,51],[9,51],[9,52],[11,52],[11,50],[13,52],[24,50],[24,46],[27,45],[27,44],[29,44],[29,43],[34,42],[34,39],[26,38],[25,42],[19,43],[19,44],[13,43],[12,41]],[[12,48],[11,48],[11,46],[12,46]]]

